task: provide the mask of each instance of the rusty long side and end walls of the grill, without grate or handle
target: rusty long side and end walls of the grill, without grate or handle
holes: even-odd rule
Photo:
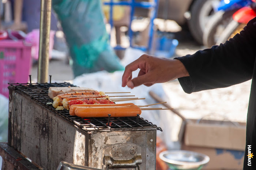
[[[10,91],[8,144],[47,170],[61,161],[106,169],[103,150],[115,144],[141,148],[140,170],[155,167],[156,129],[84,131],[28,96]],[[133,168],[134,169],[134,168]],[[132,170],[121,168],[120,170]]]

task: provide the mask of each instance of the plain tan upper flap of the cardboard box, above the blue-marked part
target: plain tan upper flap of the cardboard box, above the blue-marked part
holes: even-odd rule
[[[184,144],[207,148],[244,151],[246,124],[229,121],[190,120],[185,127]]]

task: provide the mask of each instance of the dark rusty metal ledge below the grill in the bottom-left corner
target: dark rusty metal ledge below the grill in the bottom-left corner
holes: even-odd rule
[[[40,170],[7,143],[0,143],[0,156],[3,158],[2,170]]]

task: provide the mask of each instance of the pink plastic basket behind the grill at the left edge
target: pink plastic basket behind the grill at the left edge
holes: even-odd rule
[[[0,40],[0,94],[9,96],[8,83],[27,83],[31,68],[31,44]]]

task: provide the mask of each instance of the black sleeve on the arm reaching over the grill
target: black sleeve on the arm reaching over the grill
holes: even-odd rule
[[[178,80],[187,93],[242,83],[252,79],[255,56],[256,18],[225,44],[177,57],[189,73]]]

